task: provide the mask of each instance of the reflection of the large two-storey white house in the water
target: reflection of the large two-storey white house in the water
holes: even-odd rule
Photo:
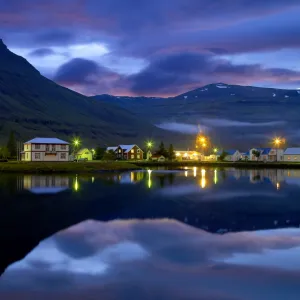
[[[70,179],[66,176],[25,175],[24,189],[34,194],[56,194],[70,188]]]

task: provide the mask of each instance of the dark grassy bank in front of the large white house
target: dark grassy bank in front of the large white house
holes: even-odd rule
[[[0,162],[0,173],[96,173],[137,170],[128,162]]]

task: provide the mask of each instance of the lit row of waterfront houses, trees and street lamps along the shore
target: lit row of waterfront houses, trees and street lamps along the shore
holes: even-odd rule
[[[82,145],[80,138],[73,138],[71,142],[59,138],[36,137],[16,147],[13,137],[3,151],[2,159],[9,157],[9,153],[17,152],[18,160],[24,162],[68,162],[68,161],[205,161],[205,162],[300,162],[300,147],[285,148],[285,140],[274,138],[272,146],[268,148],[253,147],[247,151],[239,149],[222,149],[212,145],[209,137],[199,133],[196,137],[194,149],[176,149],[173,145],[165,147],[163,142],[156,145],[153,141],[146,141],[144,145],[111,145],[100,148],[87,148]],[[6,156],[5,156],[5,153]],[[11,155],[13,156],[13,155]]]

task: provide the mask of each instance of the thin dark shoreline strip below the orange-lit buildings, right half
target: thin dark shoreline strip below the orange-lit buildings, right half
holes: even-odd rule
[[[203,162],[203,161],[173,161],[173,162],[135,162],[140,167],[218,167],[235,169],[300,169],[300,163],[289,162]]]

